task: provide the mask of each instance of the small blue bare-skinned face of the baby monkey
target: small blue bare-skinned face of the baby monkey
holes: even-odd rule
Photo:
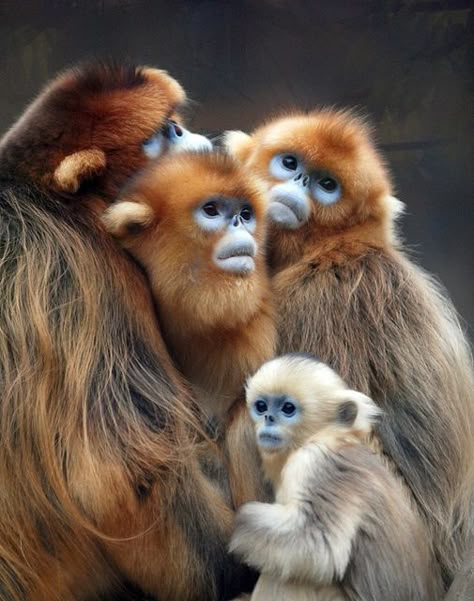
[[[278,451],[288,444],[286,427],[300,421],[298,402],[288,395],[261,396],[250,408],[250,415],[257,425],[257,442],[266,451]]]

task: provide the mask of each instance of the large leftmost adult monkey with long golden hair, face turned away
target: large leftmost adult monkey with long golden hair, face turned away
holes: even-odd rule
[[[170,120],[184,100],[162,71],[75,68],[0,143],[2,599],[231,588],[232,512],[143,274],[97,219],[147,155],[205,145]]]

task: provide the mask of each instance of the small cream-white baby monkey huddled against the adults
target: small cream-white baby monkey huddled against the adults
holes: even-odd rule
[[[369,447],[380,409],[311,355],[265,363],[247,405],[276,502],[247,503],[230,549],[261,571],[252,601],[435,601],[425,526]]]

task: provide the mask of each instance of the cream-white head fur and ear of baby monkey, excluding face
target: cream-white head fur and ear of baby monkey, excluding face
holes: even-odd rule
[[[365,394],[350,390],[328,365],[305,356],[287,354],[262,365],[246,385],[247,405],[260,396],[288,395],[300,407],[294,445],[329,429],[365,436],[381,410]]]

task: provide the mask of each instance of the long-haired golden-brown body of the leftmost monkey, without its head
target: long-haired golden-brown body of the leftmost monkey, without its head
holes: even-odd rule
[[[125,572],[219,597],[232,516],[191,453],[144,278],[80,200],[0,186],[0,596],[110,598]]]

